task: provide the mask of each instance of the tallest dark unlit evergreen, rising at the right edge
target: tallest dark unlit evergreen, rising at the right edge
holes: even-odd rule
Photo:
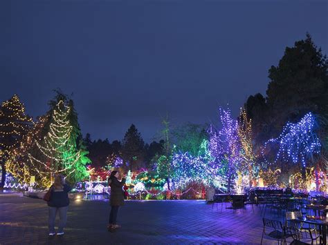
[[[273,126],[277,132],[287,121],[298,121],[307,112],[328,110],[327,59],[309,34],[287,47],[277,67],[271,66],[266,90]]]

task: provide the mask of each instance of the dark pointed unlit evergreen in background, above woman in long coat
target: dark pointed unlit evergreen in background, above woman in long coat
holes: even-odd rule
[[[136,126],[131,124],[125,133],[122,146],[122,157],[129,163],[129,168],[134,171],[143,167],[145,143]]]

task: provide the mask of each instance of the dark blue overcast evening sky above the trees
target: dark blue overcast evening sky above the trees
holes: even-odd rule
[[[311,2],[311,3],[310,3]],[[217,122],[306,32],[327,54],[327,1],[0,1],[0,100],[29,115],[73,92],[82,132],[145,141],[172,124]]]

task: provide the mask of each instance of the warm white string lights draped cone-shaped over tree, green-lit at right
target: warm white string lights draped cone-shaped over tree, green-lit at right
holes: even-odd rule
[[[13,171],[16,176],[23,172],[25,181],[30,176],[36,176],[37,184],[44,187],[49,186],[53,175],[58,173],[63,173],[73,182],[89,176],[86,164],[91,161],[86,157],[86,150],[76,146],[78,135],[71,124],[72,112],[72,108],[61,100],[48,115],[35,124],[35,128],[31,130],[33,133],[28,135],[12,159],[12,163],[19,158],[25,161],[19,164],[24,168]],[[42,137],[46,124],[48,132]]]

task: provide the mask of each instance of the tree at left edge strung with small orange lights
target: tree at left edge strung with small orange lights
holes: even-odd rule
[[[13,95],[8,101],[3,101],[0,108],[0,152],[1,152],[1,185],[3,187],[6,179],[6,161],[10,152],[14,153],[23,137],[33,127],[33,120],[26,115],[24,104],[17,95]]]

